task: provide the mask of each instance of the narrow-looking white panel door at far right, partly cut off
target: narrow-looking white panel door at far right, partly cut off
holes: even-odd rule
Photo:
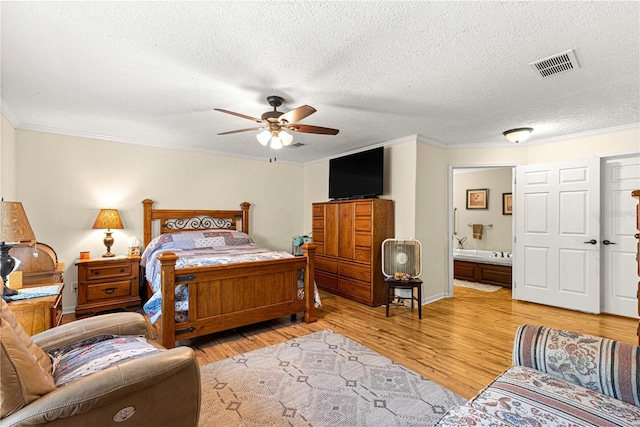
[[[637,318],[636,199],[640,156],[607,158],[602,165],[602,311]]]

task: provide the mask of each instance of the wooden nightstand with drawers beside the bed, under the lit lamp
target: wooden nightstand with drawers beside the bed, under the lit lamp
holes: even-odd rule
[[[78,260],[76,318],[140,308],[140,257]]]

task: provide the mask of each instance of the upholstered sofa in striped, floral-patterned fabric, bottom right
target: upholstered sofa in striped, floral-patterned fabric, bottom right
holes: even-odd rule
[[[513,366],[439,426],[640,426],[640,347],[522,325]]]

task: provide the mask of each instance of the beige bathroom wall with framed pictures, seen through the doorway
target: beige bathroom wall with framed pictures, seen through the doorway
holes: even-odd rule
[[[512,192],[512,168],[456,169],[453,175],[453,207],[455,210],[456,238],[466,237],[465,249],[511,252],[512,216],[502,214],[502,194]],[[489,190],[487,209],[467,209],[467,190]],[[469,224],[493,224],[484,227],[482,238],[474,239]],[[454,246],[457,242],[454,240]]]

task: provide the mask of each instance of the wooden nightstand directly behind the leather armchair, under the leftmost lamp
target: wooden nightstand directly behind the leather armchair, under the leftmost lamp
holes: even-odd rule
[[[57,295],[47,297],[29,298],[17,301],[10,301],[7,304],[11,313],[18,319],[18,322],[27,331],[29,335],[35,335],[54,326],[60,325],[62,321],[62,289],[63,283],[54,283],[60,285]],[[50,286],[51,283],[45,283],[43,286]]]

